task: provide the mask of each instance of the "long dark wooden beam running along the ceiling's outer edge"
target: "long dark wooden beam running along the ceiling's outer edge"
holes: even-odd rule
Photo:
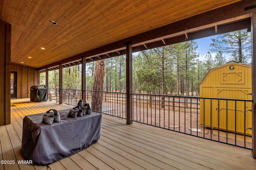
[[[134,35],[132,37],[128,37],[114,43],[110,43],[104,45],[102,47],[98,47],[96,49],[92,49],[90,51],[86,51],[84,53],[80,53],[78,55],[69,57],[62,61],[58,61],[47,66],[43,66],[38,68],[38,70],[43,70],[46,67],[53,67],[58,65],[59,63],[67,63],[74,60],[80,60],[81,57],[90,58],[92,56],[104,55],[106,53],[110,53],[110,51],[120,51],[125,49],[124,43],[132,42],[130,45],[139,44],[147,41],[154,41],[154,39],[159,39],[159,37],[165,37],[168,35],[175,35],[176,33],[186,30],[192,29],[207,29],[214,23],[222,23],[222,22],[231,22],[232,18],[234,20],[244,19],[251,16],[252,12],[255,12],[256,9],[244,10],[248,6],[254,5],[254,2],[250,0],[243,0],[236,2],[234,4],[230,4],[228,6],[224,6],[222,8],[217,8],[215,10],[205,12],[203,14],[199,14],[190,18],[186,18],[181,21],[177,21],[168,25],[164,25],[162,27],[152,29],[150,31],[146,31],[144,33],[140,33],[138,35]],[[216,25],[216,24],[214,24]],[[213,26],[214,26],[213,25]],[[215,30],[214,30],[215,31]],[[219,29],[218,29],[219,31]],[[190,33],[191,34],[191,33]],[[179,36],[179,35],[178,35]],[[190,35],[191,36],[191,35]],[[204,36],[206,37],[206,36]],[[161,38],[159,39],[161,41]],[[183,39],[184,40],[184,39]],[[191,37],[190,37],[191,40]],[[143,44],[143,43],[142,43]],[[148,44],[149,45],[149,44]],[[148,47],[149,48],[149,47]]]

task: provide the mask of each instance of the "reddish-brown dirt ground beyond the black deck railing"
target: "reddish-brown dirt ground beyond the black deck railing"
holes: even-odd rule
[[[103,104],[103,107],[108,108],[104,113],[121,118],[125,118],[126,116],[126,108],[122,103],[113,104],[112,102],[106,102]],[[200,108],[196,108],[196,106],[184,108],[184,106],[180,104],[180,106],[175,107],[173,111],[172,106],[150,106],[144,103],[134,103],[132,107],[133,119],[138,123],[146,123],[155,127],[162,127],[164,130],[169,129],[171,131],[212,139],[231,145],[252,148],[252,139],[250,136],[245,137],[244,135],[232,132],[227,133],[226,131],[210,129],[209,127],[200,125]]]

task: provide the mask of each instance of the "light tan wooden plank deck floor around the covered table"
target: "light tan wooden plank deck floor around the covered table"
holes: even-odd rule
[[[24,160],[21,151],[22,119],[25,115],[43,113],[71,106],[56,102],[30,102],[12,99],[11,124],[0,126],[0,170],[46,170],[46,166],[18,164]],[[50,170],[189,170],[189,169],[256,169],[251,151],[220,145],[208,140],[191,138],[139,123],[126,125],[126,120],[103,115],[100,140],[91,147],[50,164]]]

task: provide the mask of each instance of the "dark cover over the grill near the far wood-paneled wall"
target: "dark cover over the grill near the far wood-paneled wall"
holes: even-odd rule
[[[31,102],[46,102],[47,101],[46,85],[31,86],[31,88],[30,88],[30,101]]]

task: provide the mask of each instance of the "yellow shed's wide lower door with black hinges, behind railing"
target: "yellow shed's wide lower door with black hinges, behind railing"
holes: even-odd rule
[[[252,99],[252,91],[250,89],[218,89],[218,98],[233,99]],[[236,133],[252,135],[252,112],[248,111],[252,108],[251,102],[215,100],[215,114],[213,114],[213,125],[216,128],[228,130]],[[218,120],[218,118],[220,119]],[[235,128],[236,127],[236,128]]]

